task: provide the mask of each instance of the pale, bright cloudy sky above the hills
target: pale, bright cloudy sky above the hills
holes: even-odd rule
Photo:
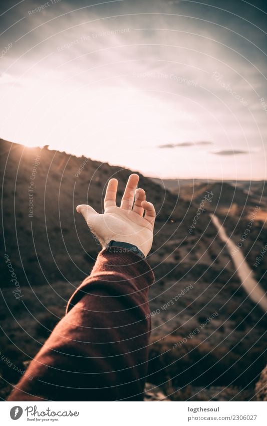
[[[160,178],[266,179],[267,3],[0,5],[0,138]]]

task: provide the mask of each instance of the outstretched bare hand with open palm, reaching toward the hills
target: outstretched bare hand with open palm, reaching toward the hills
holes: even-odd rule
[[[77,211],[103,247],[111,240],[128,242],[147,256],[152,246],[156,212],[153,204],[146,201],[145,191],[136,189],[138,181],[138,175],[129,176],[120,207],[116,206],[118,181],[111,179],[104,199],[104,214],[86,204],[77,206]]]

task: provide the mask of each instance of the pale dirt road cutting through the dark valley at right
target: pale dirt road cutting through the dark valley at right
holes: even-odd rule
[[[220,239],[226,243],[229,255],[233,261],[236,272],[240,278],[244,290],[255,304],[259,305],[264,312],[267,312],[267,297],[265,296],[265,292],[253,277],[253,271],[248,266],[248,263],[242,254],[242,251],[236,251],[236,245],[226,235],[226,232],[221,223],[219,222],[217,216],[215,216],[214,214],[210,214],[210,217],[213,225],[218,230],[218,235]],[[232,253],[234,253],[234,255]]]

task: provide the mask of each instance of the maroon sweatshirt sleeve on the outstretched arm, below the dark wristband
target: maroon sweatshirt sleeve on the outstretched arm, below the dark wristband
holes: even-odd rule
[[[153,280],[136,254],[102,250],[8,400],[141,401]]]

